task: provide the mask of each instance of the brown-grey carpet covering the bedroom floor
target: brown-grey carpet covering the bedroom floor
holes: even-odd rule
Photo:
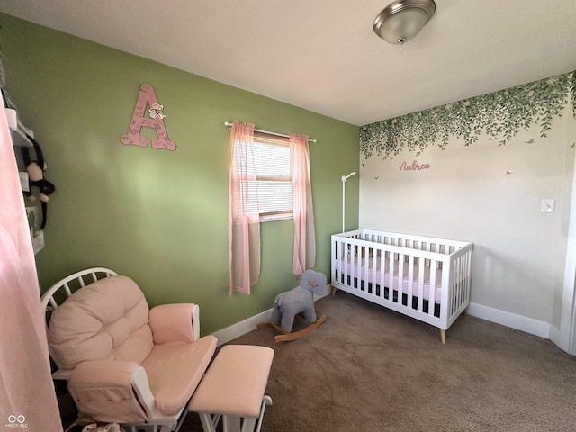
[[[263,431],[576,431],[576,357],[546,339],[462,316],[440,331],[338,292],[329,320],[276,344]],[[303,320],[297,325],[305,325]],[[201,431],[190,413],[182,432]]]

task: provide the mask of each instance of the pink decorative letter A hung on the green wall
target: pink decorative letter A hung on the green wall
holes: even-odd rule
[[[153,117],[144,117],[147,104],[150,106],[150,113],[154,112]],[[158,109],[159,107],[159,109]],[[156,94],[152,85],[143,84],[140,86],[140,93],[136,106],[134,106],[134,114],[132,114],[132,121],[130,122],[130,129],[126,135],[122,135],[122,143],[128,146],[147,147],[148,139],[140,137],[141,128],[152,128],[156,130],[157,139],[152,139],[153,148],[165,148],[166,150],[175,150],[176,145],[168,138],[166,126],[164,125],[164,114],[161,113],[163,106],[158,104]]]

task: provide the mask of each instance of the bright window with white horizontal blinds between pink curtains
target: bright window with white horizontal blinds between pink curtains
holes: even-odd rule
[[[293,219],[291,165],[289,139],[255,132],[256,180],[245,181],[248,184],[249,194],[257,196],[257,200],[243,204],[249,211],[258,212],[260,221]],[[239,169],[240,166],[238,171]]]

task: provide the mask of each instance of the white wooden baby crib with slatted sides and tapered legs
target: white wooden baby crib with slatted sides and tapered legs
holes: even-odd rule
[[[334,234],[331,284],[446,330],[470,303],[473,244],[356,229]]]

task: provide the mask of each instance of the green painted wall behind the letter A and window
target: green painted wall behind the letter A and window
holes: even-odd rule
[[[271,308],[277,293],[297,284],[292,220],[262,225],[261,281],[250,296],[229,295],[223,122],[235,119],[318,139],[311,144],[316,270],[329,275],[329,236],[341,229],[340,176],[359,170],[356,126],[5,14],[0,25],[9,94],[57,187],[36,257],[42,289],[108,266],[133,277],[150,305],[199,303],[202,334]],[[121,144],[143,83],[165,106],[176,151]],[[358,182],[349,181],[347,228],[357,225]]]

